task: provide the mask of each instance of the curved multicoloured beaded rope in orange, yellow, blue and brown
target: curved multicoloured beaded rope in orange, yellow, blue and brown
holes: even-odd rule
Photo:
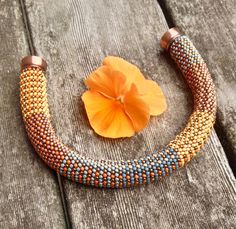
[[[186,36],[177,35],[169,39],[166,48],[192,90],[194,112],[184,130],[166,147],[134,160],[93,160],[80,156],[61,143],[50,121],[43,69],[45,62],[43,65],[25,61],[20,80],[21,109],[28,136],[43,161],[72,181],[104,188],[124,188],[158,181],[189,162],[212,130],[216,97],[202,57]]]

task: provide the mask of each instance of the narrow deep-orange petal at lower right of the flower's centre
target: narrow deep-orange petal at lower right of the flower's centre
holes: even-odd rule
[[[125,112],[130,117],[135,131],[142,130],[150,119],[149,106],[138,94],[134,84],[124,98]]]

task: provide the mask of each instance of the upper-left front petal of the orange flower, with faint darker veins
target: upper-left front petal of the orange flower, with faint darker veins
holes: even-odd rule
[[[104,96],[116,98],[125,91],[126,77],[108,66],[101,66],[90,74],[85,84]]]

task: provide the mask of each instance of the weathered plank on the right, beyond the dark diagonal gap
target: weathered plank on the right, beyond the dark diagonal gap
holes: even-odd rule
[[[236,174],[236,1],[165,3],[174,24],[192,38],[212,72],[218,96],[216,130]]]

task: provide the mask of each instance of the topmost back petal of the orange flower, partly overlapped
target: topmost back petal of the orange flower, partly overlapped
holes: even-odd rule
[[[108,56],[103,60],[103,65],[110,66],[113,70],[122,72],[127,77],[127,86],[130,88],[131,84],[137,80],[145,79],[140,70],[128,61],[116,57]]]

